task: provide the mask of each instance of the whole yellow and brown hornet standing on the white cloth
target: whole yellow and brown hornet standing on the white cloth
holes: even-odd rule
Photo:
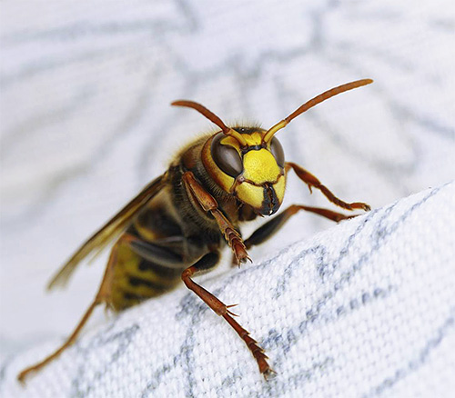
[[[300,210],[319,214],[335,222],[352,217],[328,209],[292,204],[247,239],[239,225],[278,212],[283,203],[288,173],[293,171],[311,189],[319,189],[329,202],[346,210],[369,211],[368,204],[339,199],[319,179],[298,164],[285,161],[275,134],[299,114],[348,90],[369,85],[370,79],[339,85],[302,104],[268,130],[256,126],[228,127],[206,107],[192,101],[176,101],[207,117],[219,128],[188,144],[167,171],[136,195],[96,234],[86,240],[55,275],[48,289],[64,286],[89,254],[97,254],[114,242],[106,271],[86,313],[60,348],[40,363],[18,375],[21,382],[50,363],[75,342],[84,324],[99,304],[116,312],[173,289],[181,281],[204,303],[222,316],[247,344],[259,372],[274,373],[259,343],[234,319],[230,308],[194,281],[197,274],[213,269],[224,246],[233,263],[250,260],[248,249],[262,244]]]

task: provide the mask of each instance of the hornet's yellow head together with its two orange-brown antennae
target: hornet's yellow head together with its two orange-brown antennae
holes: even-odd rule
[[[371,79],[362,79],[332,88],[300,105],[267,131],[257,127],[227,127],[216,114],[193,101],[178,100],[172,104],[195,109],[221,129],[204,144],[201,156],[207,173],[217,185],[249,204],[258,214],[271,215],[277,213],[283,202],[286,186],[283,148],[274,135],[313,106],[370,83]]]

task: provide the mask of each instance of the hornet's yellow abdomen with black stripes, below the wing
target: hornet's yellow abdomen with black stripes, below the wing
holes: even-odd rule
[[[173,289],[187,267],[183,262],[184,239],[173,208],[166,203],[166,192],[156,199],[126,231],[139,242],[130,244],[120,238],[113,247],[116,258],[111,294],[116,311]]]

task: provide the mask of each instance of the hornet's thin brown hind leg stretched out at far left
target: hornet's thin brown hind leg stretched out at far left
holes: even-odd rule
[[[122,239],[122,238],[120,238]],[[117,245],[120,243],[120,240],[117,241],[116,245],[113,247],[111,254],[109,256],[109,261],[107,262],[106,265],[106,271],[103,276],[103,280],[101,281],[101,284],[99,286],[98,292],[96,293],[95,300],[90,304],[88,309],[86,310],[86,313],[84,313],[84,316],[82,319],[77,323],[76,329],[74,330],[73,333],[66,339],[66,342],[62,344],[60,348],[56,350],[55,353],[51,353],[49,356],[47,356],[43,361],[36,363],[33,366],[30,366],[23,370],[21,373],[17,375],[17,380],[21,383],[25,383],[25,378],[29,373],[35,373],[39,371],[41,368],[43,368],[47,363],[52,362],[60,353],[63,353],[67,347],[69,347],[71,344],[75,343],[76,338],[78,334],[81,332],[82,328],[88,321],[88,318],[90,318],[90,315],[93,313],[93,310],[95,310],[96,306],[101,303],[105,303],[106,307],[110,306],[110,292],[111,292],[111,283],[112,283],[112,276],[113,276],[113,269],[116,264],[116,248]]]

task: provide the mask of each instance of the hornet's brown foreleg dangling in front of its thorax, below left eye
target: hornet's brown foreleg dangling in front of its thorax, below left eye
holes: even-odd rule
[[[245,263],[247,259],[251,261],[242,237],[227,217],[219,211],[217,200],[197,182],[192,172],[183,174],[182,180],[187,188],[187,193],[191,194],[204,211],[212,214],[213,218],[215,218],[219,230],[236,256],[237,264]]]

